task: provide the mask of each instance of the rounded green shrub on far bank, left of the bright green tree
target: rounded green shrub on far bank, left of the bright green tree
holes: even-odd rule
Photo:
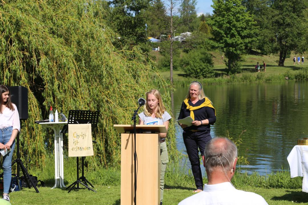
[[[188,77],[213,77],[213,60],[205,50],[192,50],[183,57],[182,65]]]

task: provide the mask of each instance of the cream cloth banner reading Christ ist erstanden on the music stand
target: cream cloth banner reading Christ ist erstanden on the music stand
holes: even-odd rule
[[[92,156],[91,124],[68,124],[68,156]]]

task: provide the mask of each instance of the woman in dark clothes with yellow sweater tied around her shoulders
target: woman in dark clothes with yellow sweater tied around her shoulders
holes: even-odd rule
[[[188,116],[193,118],[191,126],[179,124],[183,128],[183,140],[197,187],[193,192],[200,192],[203,190],[203,181],[198,148],[203,155],[206,143],[212,139],[210,124],[213,125],[216,121],[216,111],[209,98],[205,97],[202,85],[198,81],[193,81],[189,85],[178,119]]]

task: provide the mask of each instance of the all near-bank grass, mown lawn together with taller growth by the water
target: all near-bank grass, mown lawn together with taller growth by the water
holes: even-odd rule
[[[180,163],[182,158],[185,156],[179,155],[168,163],[165,175],[164,205],[178,204],[181,200],[193,195],[192,191],[196,188],[192,174],[187,175],[183,168],[185,165]],[[94,185],[97,193],[86,189],[68,193],[65,189],[51,189],[55,182],[54,159],[50,156],[46,162],[44,169],[30,170],[29,173],[38,176],[38,179],[43,180],[47,187],[38,186],[40,193],[36,193],[34,188],[24,188],[22,191],[10,193],[12,204],[120,204],[120,169],[89,166],[85,176]],[[68,186],[76,180],[76,159],[74,157],[64,159],[64,171],[65,185]],[[206,182],[207,179],[204,178],[204,183]],[[287,170],[267,176],[236,172],[232,183],[237,189],[252,191],[263,196],[270,205],[308,203],[308,193],[301,191],[302,177],[291,179],[290,172]]]

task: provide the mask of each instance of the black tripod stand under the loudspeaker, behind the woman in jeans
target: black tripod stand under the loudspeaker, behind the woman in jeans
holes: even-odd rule
[[[20,128],[21,128],[21,127],[22,127],[22,121],[20,120]],[[20,169],[21,169],[22,174],[23,174],[23,176],[24,176],[25,179],[26,179],[26,183],[27,183],[29,189],[31,188],[31,187],[30,187],[30,183],[29,183],[29,180],[30,180],[31,185],[34,187],[36,193],[39,193],[38,188],[37,188],[36,185],[34,184],[33,180],[31,179],[31,177],[30,177],[30,175],[29,175],[29,173],[28,173],[28,171],[26,170],[25,166],[22,164],[22,161],[21,161],[21,159],[20,159],[20,152],[19,152],[19,132],[18,132],[16,138],[17,138],[17,144],[16,144],[16,146],[17,146],[17,159],[13,161],[12,167],[13,167],[13,165],[14,165],[15,163],[17,163],[17,184],[18,184],[18,188],[19,188],[19,190],[21,190],[21,188],[22,188],[22,187],[20,187],[20,184],[19,184],[19,181],[20,181],[19,172],[20,172]],[[28,179],[29,179],[29,180],[28,180]]]

